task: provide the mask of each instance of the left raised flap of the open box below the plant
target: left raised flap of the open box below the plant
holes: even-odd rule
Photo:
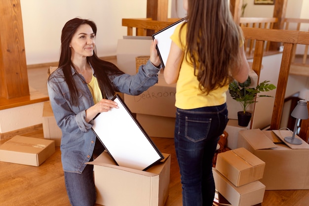
[[[239,133],[250,143],[255,150],[270,149],[277,147],[261,129],[240,130]]]

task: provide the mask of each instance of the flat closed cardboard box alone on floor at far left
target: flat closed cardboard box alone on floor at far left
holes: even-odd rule
[[[14,136],[0,145],[0,161],[39,166],[55,153],[52,140]]]

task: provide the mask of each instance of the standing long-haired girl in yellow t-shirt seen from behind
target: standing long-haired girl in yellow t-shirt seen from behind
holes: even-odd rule
[[[248,78],[240,27],[229,0],[183,0],[187,21],[176,27],[164,68],[176,83],[175,149],[183,206],[212,206],[212,159],[228,123],[226,92]]]

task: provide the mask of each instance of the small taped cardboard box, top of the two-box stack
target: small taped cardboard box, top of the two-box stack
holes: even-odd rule
[[[216,169],[236,187],[263,177],[265,163],[241,147],[219,153]]]

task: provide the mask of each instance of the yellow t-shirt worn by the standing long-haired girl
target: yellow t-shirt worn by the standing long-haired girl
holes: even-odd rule
[[[185,47],[182,46],[181,42],[183,45],[186,45],[187,24],[184,26],[180,33],[181,25],[178,25],[175,28],[175,31],[171,36],[171,40],[176,43],[179,48],[185,50]],[[181,42],[179,37],[181,38]],[[229,89],[229,85],[212,90],[206,95],[206,93],[202,93],[199,90],[199,82],[193,73],[193,67],[186,61],[186,58],[184,57],[176,84],[175,106],[177,108],[195,109],[207,106],[218,106],[226,102],[226,92]]]

